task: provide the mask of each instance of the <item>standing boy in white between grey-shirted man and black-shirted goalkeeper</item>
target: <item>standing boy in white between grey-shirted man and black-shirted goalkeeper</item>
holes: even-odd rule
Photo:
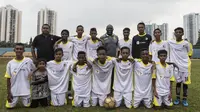
[[[119,40],[119,43],[118,43],[119,51],[118,51],[117,56],[119,56],[121,54],[120,51],[121,51],[122,47],[128,47],[130,49],[130,53],[132,52],[132,50],[131,50],[132,49],[132,39],[129,38],[130,28],[124,28],[123,35],[124,35],[124,38]]]

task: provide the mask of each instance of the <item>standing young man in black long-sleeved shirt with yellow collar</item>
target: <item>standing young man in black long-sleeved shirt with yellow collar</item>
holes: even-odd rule
[[[143,22],[138,23],[137,29],[139,34],[135,35],[132,39],[132,56],[133,58],[140,58],[141,49],[149,49],[151,43],[151,35],[146,34],[145,24]]]

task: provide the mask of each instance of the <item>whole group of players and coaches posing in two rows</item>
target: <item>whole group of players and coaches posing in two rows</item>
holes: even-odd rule
[[[159,28],[152,36],[146,34],[143,22],[138,23],[134,37],[129,36],[130,28],[124,28],[121,39],[110,24],[101,37],[97,28],[84,35],[82,25],[74,36],[67,29],[61,37],[51,35],[48,24],[41,30],[32,43],[32,58],[23,56],[22,43],[14,47],[16,57],[7,63],[5,73],[6,108],[15,108],[19,101],[30,108],[58,107],[66,105],[67,99],[83,108],[189,106],[193,48],[183,38],[183,28],[174,29],[175,39],[167,41],[161,40]]]

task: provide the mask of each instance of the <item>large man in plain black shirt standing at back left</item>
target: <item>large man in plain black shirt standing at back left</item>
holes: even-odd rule
[[[49,34],[50,26],[44,24],[42,26],[42,34],[37,35],[32,43],[31,52],[33,60],[36,61],[39,58],[46,59],[47,61],[54,59],[54,44],[61,39],[58,36]],[[35,48],[37,49],[37,56],[35,54]]]

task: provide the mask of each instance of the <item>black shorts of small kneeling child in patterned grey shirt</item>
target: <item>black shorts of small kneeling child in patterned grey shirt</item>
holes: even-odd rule
[[[39,104],[42,106],[42,107],[46,107],[48,106],[48,100],[47,98],[43,98],[43,99],[37,99],[37,100],[32,100],[31,101],[31,108],[36,108],[39,106]]]

